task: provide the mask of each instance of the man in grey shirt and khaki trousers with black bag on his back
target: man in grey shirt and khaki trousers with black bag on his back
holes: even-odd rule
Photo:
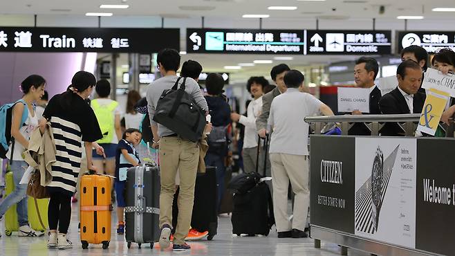
[[[147,102],[151,130],[154,138],[154,148],[160,149],[160,247],[167,248],[170,244],[171,223],[172,223],[172,201],[176,192],[176,174],[180,176],[180,193],[178,194],[178,223],[174,234],[172,248],[174,250],[187,250],[190,248],[185,243],[185,236],[188,234],[191,223],[194,185],[196,183],[196,172],[199,161],[199,145],[192,141],[180,138],[175,131],[171,131],[164,125],[157,124],[153,119],[156,105],[161,94],[169,90],[177,82],[177,70],[180,66],[180,55],[174,49],[164,49],[158,53],[158,69],[163,75],[160,79],[149,84],[147,88]],[[180,79],[179,87],[183,79]],[[198,84],[192,78],[187,78],[185,91],[192,95],[194,102],[199,107],[208,111],[207,102],[199,89]]]

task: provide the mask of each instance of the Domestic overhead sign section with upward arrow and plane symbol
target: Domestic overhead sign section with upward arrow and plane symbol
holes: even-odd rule
[[[305,30],[308,55],[391,54],[390,30]]]

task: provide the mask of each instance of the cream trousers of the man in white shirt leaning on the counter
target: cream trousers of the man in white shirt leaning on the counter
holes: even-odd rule
[[[293,228],[303,231],[310,203],[308,156],[272,153],[270,162],[272,163],[273,212],[277,231],[285,232]],[[288,215],[289,182],[295,193],[292,223]]]

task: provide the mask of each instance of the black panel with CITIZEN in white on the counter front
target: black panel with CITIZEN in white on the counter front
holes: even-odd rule
[[[310,152],[311,224],[353,234],[355,138],[310,136]]]

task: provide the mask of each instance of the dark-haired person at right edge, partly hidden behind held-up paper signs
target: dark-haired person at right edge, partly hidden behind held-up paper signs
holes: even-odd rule
[[[441,49],[431,60],[431,66],[443,74],[455,73],[455,53],[449,48]],[[449,124],[449,118],[452,118],[455,114],[455,100],[450,98],[447,109],[443,112],[441,120],[447,125]],[[450,106],[450,107],[449,107]]]

